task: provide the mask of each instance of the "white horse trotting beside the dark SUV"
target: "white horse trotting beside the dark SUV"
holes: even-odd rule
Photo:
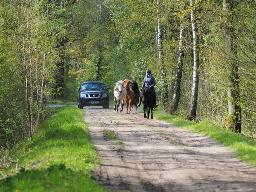
[[[117,81],[116,86],[114,88],[115,111],[118,112],[119,104],[121,105],[120,112],[123,111],[125,96],[126,96],[126,88],[124,87],[124,81]]]

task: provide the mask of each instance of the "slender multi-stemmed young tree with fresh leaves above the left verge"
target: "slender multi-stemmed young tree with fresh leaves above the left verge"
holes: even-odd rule
[[[49,85],[54,83],[54,61],[58,61],[57,38],[52,35],[57,28],[54,22],[48,22],[47,15],[42,14],[41,6],[37,1],[21,3],[16,7],[20,11],[16,12],[13,28],[9,29],[12,42],[9,54],[19,69],[15,71],[19,76],[16,81],[20,81],[24,91],[31,139],[34,129],[42,122],[43,100],[49,93]]]

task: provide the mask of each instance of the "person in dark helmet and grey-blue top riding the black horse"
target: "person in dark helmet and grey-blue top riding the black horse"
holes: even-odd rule
[[[153,77],[153,75],[151,74],[151,70],[147,69],[146,70],[146,76],[145,76],[145,78],[143,80],[143,84],[142,84],[141,90],[143,91],[143,90],[145,90],[148,87],[150,88],[150,90],[154,94],[154,107],[157,107],[157,104],[156,104],[156,92],[155,92],[155,89],[154,89],[154,85],[156,85],[156,80]],[[140,106],[140,104],[141,104],[141,94],[140,94],[140,98],[139,98],[137,106]]]

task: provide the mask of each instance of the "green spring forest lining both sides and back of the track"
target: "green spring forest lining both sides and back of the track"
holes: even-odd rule
[[[141,87],[146,69],[161,110],[255,140],[255,22],[254,0],[1,0],[0,151],[82,81]]]

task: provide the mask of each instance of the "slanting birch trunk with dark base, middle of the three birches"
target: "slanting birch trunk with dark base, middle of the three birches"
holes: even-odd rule
[[[183,31],[184,27],[182,24],[183,17],[181,17],[181,24],[180,24],[180,43],[179,43],[179,57],[178,57],[178,66],[176,69],[176,78],[175,78],[175,83],[174,83],[174,88],[173,88],[173,100],[171,102],[171,105],[168,109],[168,112],[170,114],[173,114],[174,112],[177,111],[178,109],[178,104],[180,101],[180,82],[182,78],[182,69],[183,69]]]

